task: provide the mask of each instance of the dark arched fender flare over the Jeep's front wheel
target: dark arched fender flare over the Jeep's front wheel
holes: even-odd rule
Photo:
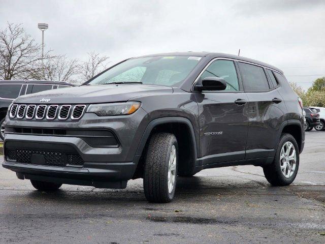
[[[146,142],[150,136],[150,133],[152,132],[152,129],[158,125],[169,124],[169,123],[185,124],[188,127],[190,137],[192,139],[192,150],[193,150],[193,157],[194,157],[193,162],[195,162],[195,160],[198,157],[198,147],[197,147],[196,135],[194,133],[194,128],[193,128],[191,121],[188,118],[184,118],[184,117],[162,117],[162,118],[156,118],[156,119],[153,119],[152,121],[150,121],[150,123],[148,124],[148,126],[146,127],[146,129],[142,135],[138,149],[136,151],[135,158],[141,157],[143,149],[146,145]]]

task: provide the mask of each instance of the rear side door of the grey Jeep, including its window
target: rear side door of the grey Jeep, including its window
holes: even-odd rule
[[[271,80],[272,72],[250,63],[238,62],[238,66],[249,100],[245,159],[273,157],[278,130],[285,120],[285,104]]]

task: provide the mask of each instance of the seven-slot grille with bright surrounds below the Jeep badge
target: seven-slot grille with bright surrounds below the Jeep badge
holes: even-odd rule
[[[85,113],[86,105],[36,105],[36,104],[13,104],[10,109],[10,118],[46,119],[54,120],[78,120]]]

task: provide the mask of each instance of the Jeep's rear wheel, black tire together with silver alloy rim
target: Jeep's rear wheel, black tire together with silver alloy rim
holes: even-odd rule
[[[266,179],[273,186],[288,186],[299,168],[299,148],[293,136],[283,133],[271,165],[263,167]]]

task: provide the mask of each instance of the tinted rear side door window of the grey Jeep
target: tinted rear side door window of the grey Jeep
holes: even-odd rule
[[[246,91],[254,92],[270,89],[262,67],[239,62],[239,69],[243,77],[243,84]]]

